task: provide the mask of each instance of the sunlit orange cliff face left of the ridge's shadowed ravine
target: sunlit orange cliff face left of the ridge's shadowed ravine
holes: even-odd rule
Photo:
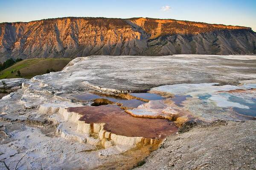
[[[34,53],[38,48],[50,47],[60,52],[64,48],[77,48],[79,45],[112,45],[119,41],[140,39],[140,34],[123,20],[108,20],[106,23],[102,19],[61,18],[1,26],[3,33],[0,40],[8,44],[3,43],[1,47],[11,50],[23,48],[25,54]],[[12,29],[12,37],[4,26]]]

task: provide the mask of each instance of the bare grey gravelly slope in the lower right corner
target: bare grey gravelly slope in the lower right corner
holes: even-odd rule
[[[136,170],[255,170],[256,122],[213,122],[167,137]]]

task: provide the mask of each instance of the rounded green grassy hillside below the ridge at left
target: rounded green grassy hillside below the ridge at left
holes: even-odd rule
[[[54,58],[38,58],[24,59],[17,62],[9,68],[0,71],[0,79],[9,78],[32,78],[36,75],[46,74],[47,69],[61,71],[72,59],[54,59]],[[17,71],[20,71],[20,76],[17,76]],[[13,73],[12,73],[13,72]]]

